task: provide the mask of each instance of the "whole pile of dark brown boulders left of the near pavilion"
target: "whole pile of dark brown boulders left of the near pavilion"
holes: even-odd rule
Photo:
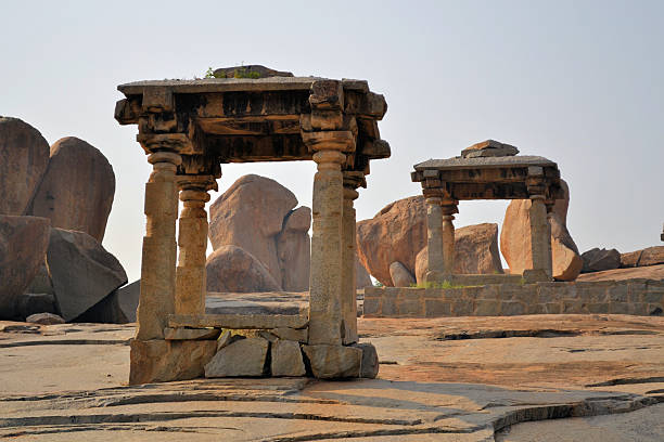
[[[125,270],[101,245],[115,193],[104,155],[0,117],[0,318],[131,321],[138,299],[127,306]]]

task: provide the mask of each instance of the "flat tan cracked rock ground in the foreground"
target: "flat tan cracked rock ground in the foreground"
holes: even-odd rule
[[[664,317],[360,318],[359,333],[376,379],[128,387],[131,325],[2,322],[0,437],[662,440]]]

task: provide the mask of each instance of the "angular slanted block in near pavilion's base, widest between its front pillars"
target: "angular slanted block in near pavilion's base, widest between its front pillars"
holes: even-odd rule
[[[257,377],[268,373],[266,360],[270,343],[260,338],[232,341],[205,365],[205,377]],[[215,343],[216,348],[216,343]]]

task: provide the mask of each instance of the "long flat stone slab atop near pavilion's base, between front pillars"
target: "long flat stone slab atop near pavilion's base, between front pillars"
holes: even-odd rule
[[[173,328],[299,329],[305,328],[308,322],[306,314],[171,314],[168,316],[168,326]]]

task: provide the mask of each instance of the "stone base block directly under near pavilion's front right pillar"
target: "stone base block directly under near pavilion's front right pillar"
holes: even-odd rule
[[[304,346],[314,376],[319,379],[353,378],[360,376],[362,350],[344,346]]]

